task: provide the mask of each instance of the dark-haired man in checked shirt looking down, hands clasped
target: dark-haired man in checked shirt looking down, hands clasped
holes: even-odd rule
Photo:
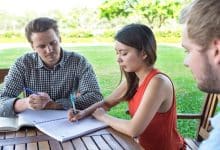
[[[0,116],[15,116],[26,109],[69,109],[70,94],[76,96],[77,109],[102,100],[92,66],[83,56],[61,48],[55,20],[36,18],[25,33],[34,52],[11,66],[0,92]],[[19,98],[24,88],[33,92]]]

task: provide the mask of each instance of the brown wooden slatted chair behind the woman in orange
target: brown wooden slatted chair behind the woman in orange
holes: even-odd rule
[[[199,120],[196,138],[195,139],[185,138],[188,150],[197,150],[201,141],[208,138],[209,132],[212,129],[209,118],[214,116],[218,101],[219,101],[218,94],[209,93],[207,94],[205,98],[204,106],[200,114],[178,114],[177,115],[178,119]]]

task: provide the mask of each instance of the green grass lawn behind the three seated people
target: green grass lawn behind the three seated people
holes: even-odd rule
[[[104,96],[107,96],[117,86],[120,80],[120,71],[116,63],[115,50],[111,46],[78,46],[68,50],[84,55],[93,65]],[[13,48],[0,50],[0,68],[8,68],[14,60],[29,52],[28,48]],[[184,51],[182,48],[160,45],[158,47],[156,67],[165,72],[172,79],[177,97],[177,111],[179,113],[198,113],[202,107],[203,93],[193,80],[190,71],[183,66]],[[111,115],[129,118],[125,114],[126,103],[111,109]],[[194,137],[196,121],[178,120],[178,129],[184,137]]]

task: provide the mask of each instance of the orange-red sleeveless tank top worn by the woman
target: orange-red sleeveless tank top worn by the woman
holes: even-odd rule
[[[137,88],[137,92],[129,101],[129,113],[131,117],[135,114],[144,91],[150,80],[160,72],[153,69]],[[163,73],[160,73],[163,74]],[[184,140],[176,129],[176,98],[173,88],[173,104],[165,113],[157,112],[144,132],[138,137],[140,144],[145,150],[180,150],[184,148]]]

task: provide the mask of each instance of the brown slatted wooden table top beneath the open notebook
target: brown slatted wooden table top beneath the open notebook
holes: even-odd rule
[[[58,142],[36,128],[0,133],[0,150],[139,150],[130,137],[111,128],[102,129],[66,142]]]

